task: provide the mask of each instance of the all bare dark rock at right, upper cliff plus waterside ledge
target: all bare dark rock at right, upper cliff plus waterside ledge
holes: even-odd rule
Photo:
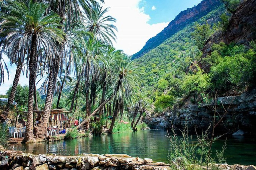
[[[249,44],[256,39],[256,0],[244,0],[231,16],[230,23],[225,32],[218,32],[211,37],[203,48],[203,56],[211,54],[211,47],[214,43],[233,42],[237,44]],[[206,72],[210,65],[198,63]],[[239,71],[239,70],[238,70]],[[178,110],[163,113],[158,117],[148,120],[151,128],[163,129],[183,128],[185,120],[188,127],[194,129],[207,129],[213,123],[215,102],[210,105],[192,105],[184,102]],[[217,123],[220,117],[223,120],[219,123],[216,132],[234,133],[238,129],[246,134],[256,135],[256,89],[244,92],[240,96],[229,96],[217,98]],[[227,111],[227,112],[226,112]],[[220,114],[220,115],[218,115]]]

